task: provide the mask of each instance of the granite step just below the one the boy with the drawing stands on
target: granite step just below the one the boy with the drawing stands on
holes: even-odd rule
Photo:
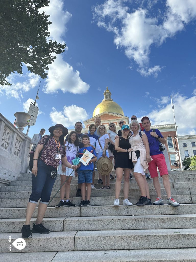
[[[88,230],[146,230],[169,228],[195,228],[196,215],[139,215],[97,217],[51,217],[43,224],[51,232]],[[36,219],[31,220],[31,228]],[[156,223],[154,223],[156,221]],[[0,219],[0,233],[21,232],[25,218]]]

